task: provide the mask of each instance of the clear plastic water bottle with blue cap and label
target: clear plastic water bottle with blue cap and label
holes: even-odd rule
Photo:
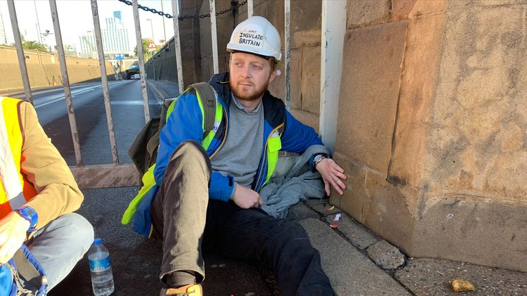
[[[113,274],[108,249],[101,238],[95,238],[88,251],[93,295],[107,296],[113,293]]]

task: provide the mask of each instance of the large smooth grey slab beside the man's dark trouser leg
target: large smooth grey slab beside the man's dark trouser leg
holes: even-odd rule
[[[316,219],[300,222],[322,258],[337,295],[411,295],[358,249]]]

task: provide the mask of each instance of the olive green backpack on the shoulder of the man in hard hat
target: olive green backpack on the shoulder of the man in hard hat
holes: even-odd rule
[[[204,137],[214,128],[216,110],[215,94],[212,86],[207,82],[191,84],[184,93],[187,93],[187,91],[193,88],[198,93],[201,105],[203,106]],[[156,163],[157,149],[159,147],[159,134],[165,126],[167,118],[172,112],[177,99],[178,98],[174,99],[172,102],[163,103],[161,115],[152,117],[152,119],[145,124],[128,149],[128,156],[132,158],[132,161],[141,176],[148,171],[148,168]]]

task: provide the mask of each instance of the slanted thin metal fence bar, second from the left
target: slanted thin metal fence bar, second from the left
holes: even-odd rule
[[[77,130],[77,121],[75,121],[75,112],[73,111],[73,101],[71,101],[71,89],[69,88],[68,69],[66,67],[66,56],[64,54],[64,45],[62,45],[62,33],[60,32],[60,23],[58,22],[57,3],[55,0],[49,0],[51,9],[51,19],[55,30],[55,40],[57,42],[58,60],[60,62],[60,73],[62,74],[62,84],[68,106],[69,126],[71,128],[71,138],[73,138],[73,149],[75,150],[75,160],[77,167],[82,166],[82,157],[80,155],[79,133]]]

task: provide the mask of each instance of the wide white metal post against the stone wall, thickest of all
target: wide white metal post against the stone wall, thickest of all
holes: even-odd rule
[[[322,2],[319,132],[323,142],[331,151],[335,150],[337,134],[342,48],[346,33],[346,2]]]

